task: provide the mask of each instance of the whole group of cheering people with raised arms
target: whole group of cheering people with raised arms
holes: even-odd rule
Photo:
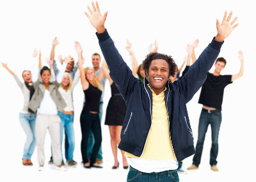
[[[100,121],[104,86],[108,79],[111,98],[106,109],[105,125],[109,126],[115,159],[112,169],[119,166],[119,148],[124,169],[129,167],[126,157],[130,159],[127,181],[150,181],[156,179],[157,175],[162,175],[165,181],[179,181],[177,170],[183,172],[182,161],[188,156],[195,154],[193,164],[188,170],[198,169],[205,133],[211,125],[210,165],[213,171],[218,171],[216,158],[223,91],[228,84],[242,77],[244,72],[242,51],[239,51],[238,56],[241,68],[236,75],[220,74],[227,61],[223,57],[218,57],[218,54],[225,38],[237,26],[234,24],[237,18],[230,22],[232,12],[227,17],[226,11],[221,24],[217,20],[218,33],[198,59],[195,56],[198,40],[187,45],[188,56],[179,69],[172,56],[157,51],[157,42],[154,49],[150,45],[149,54],[138,66],[131,43],[127,41],[125,48],[131,56],[131,70],[104,27],[108,12],[101,15],[97,2],[96,6],[92,3],[92,8],[93,10],[88,6],[90,14],[85,14],[97,30],[100,49],[106,59],[101,68],[98,53],[92,55],[93,68],[83,68],[82,47],[79,42],[75,42],[77,63],[75,64],[73,57],[60,57],[62,65],[59,70],[54,58],[55,47],[59,43],[57,38],[52,41],[51,57],[47,60],[49,67],[42,67],[41,53],[39,52],[39,59],[36,59],[38,52],[34,50],[32,70],[22,72],[24,82],[18,79],[7,64],[1,63],[13,75],[24,95],[24,107],[19,114],[20,124],[27,136],[22,164],[33,165],[31,155],[36,146],[39,171],[44,169],[44,140],[48,129],[52,143],[50,162],[56,165],[56,169],[66,170],[61,152],[65,131],[65,158],[68,165],[77,165],[73,159],[75,137],[72,91],[80,79],[84,92],[84,105],[80,117],[83,166],[102,168]],[[186,68],[182,72],[184,64]],[[214,72],[209,73],[213,64]],[[194,148],[186,103],[200,87],[202,89],[198,103],[203,107]]]

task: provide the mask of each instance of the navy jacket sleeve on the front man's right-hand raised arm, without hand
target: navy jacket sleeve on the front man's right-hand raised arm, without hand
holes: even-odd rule
[[[223,42],[212,42],[204,49],[194,64],[192,64],[182,79],[178,80],[180,90],[184,93],[186,103],[193,98],[195,93],[202,87],[206,74],[217,59]]]

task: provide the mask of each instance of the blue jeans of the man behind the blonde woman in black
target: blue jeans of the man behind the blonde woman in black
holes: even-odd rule
[[[103,103],[100,103],[100,112],[99,112],[99,117],[100,117],[100,123],[101,123],[101,119],[102,119],[102,107],[103,107]],[[93,149],[93,145],[95,143],[94,137],[93,137],[93,133],[92,130],[90,130],[90,135],[89,135],[89,140],[88,140],[88,145],[87,145],[87,156],[88,158],[91,158],[92,155],[92,149]],[[101,145],[100,145],[100,149],[98,152],[98,155],[96,157],[99,160],[102,160],[102,149],[101,149]]]

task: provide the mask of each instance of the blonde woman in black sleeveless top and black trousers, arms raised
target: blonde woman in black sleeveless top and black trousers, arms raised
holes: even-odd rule
[[[83,163],[85,168],[102,168],[99,166],[99,164],[95,163],[95,161],[102,141],[99,118],[99,105],[100,96],[102,94],[100,82],[103,79],[104,75],[101,71],[98,77],[96,77],[93,68],[83,68],[83,58],[81,55],[82,48],[79,42],[76,42],[76,51],[78,56],[78,68],[80,71],[81,84],[83,86],[84,96],[86,99],[86,105],[84,106],[80,116],[80,124],[82,131],[81,153]],[[87,144],[90,130],[92,130],[93,132],[95,144],[93,146],[92,155],[89,163],[89,160],[87,158]]]

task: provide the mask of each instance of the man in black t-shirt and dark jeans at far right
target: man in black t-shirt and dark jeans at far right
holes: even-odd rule
[[[207,132],[208,125],[211,125],[212,132],[212,146],[210,154],[210,165],[213,171],[218,171],[217,156],[218,156],[218,136],[221,124],[221,105],[223,101],[224,89],[228,84],[243,76],[244,72],[244,57],[243,52],[239,50],[238,58],[241,61],[241,68],[236,75],[220,75],[221,70],[225,68],[226,60],[219,57],[215,63],[214,73],[207,73],[198,103],[202,103],[203,108],[199,119],[198,125],[198,139],[196,143],[196,153],[193,157],[193,164],[188,170],[198,169],[201,161],[205,133]]]

